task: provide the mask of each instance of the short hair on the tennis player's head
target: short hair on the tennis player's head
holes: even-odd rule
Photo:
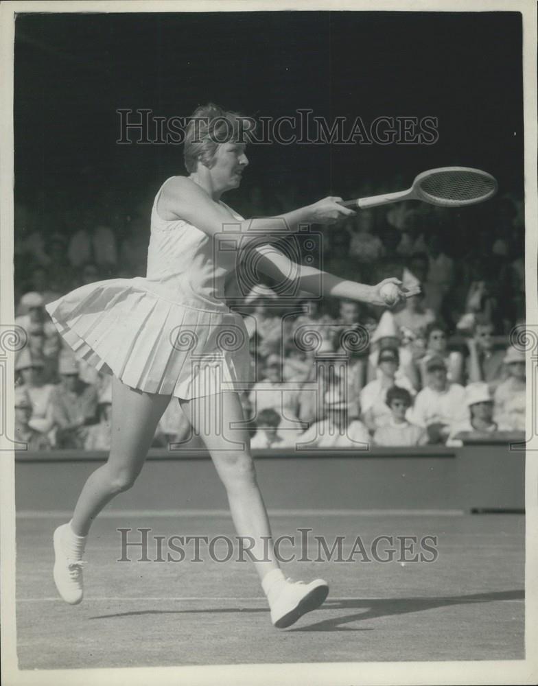
[[[198,162],[211,168],[219,145],[230,141],[248,143],[248,131],[253,128],[253,119],[244,115],[224,110],[213,102],[201,105],[187,124],[183,145],[185,168],[196,171]]]

